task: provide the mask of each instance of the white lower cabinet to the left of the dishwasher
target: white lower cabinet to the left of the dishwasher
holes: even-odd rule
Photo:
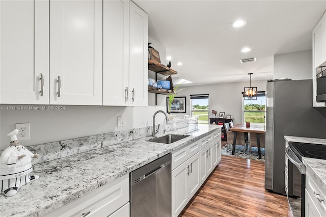
[[[45,216],[129,216],[129,174]]]

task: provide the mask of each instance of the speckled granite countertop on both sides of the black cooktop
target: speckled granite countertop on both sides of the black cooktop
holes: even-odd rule
[[[285,135],[284,138],[289,142],[313,143],[326,145],[326,139],[306,138],[306,137],[290,137]],[[322,187],[322,191],[326,194],[326,160],[303,157],[303,163],[306,171],[309,171],[316,181]]]

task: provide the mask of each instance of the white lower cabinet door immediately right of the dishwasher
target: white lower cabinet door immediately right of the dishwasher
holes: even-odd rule
[[[172,216],[178,216],[182,209],[187,205],[187,179],[189,167],[184,162],[174,169],[172,175]]]

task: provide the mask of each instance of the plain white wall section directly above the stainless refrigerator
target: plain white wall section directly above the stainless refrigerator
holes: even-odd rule
[[[282,77],[292,80],[312,79],[312,50],[274,55],[274,79]]]

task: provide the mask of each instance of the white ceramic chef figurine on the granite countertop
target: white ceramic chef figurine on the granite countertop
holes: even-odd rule
[[[33,154],[17,140],[18,129],[10,132],[10,146],[0,156],[0,180],[1,194],[12,197],[17,194],[18,189],[36,179],[38,176],[30,176],[33,171],[32,158],[39,154]]]

